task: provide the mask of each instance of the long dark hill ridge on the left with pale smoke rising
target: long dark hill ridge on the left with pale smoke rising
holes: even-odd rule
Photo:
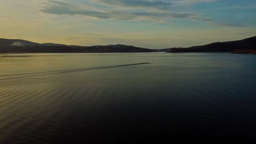
[[[127,45],[77,46],[53,43],[38,44],[26,40],[0,39],[0,53],[69,53],[69,52],[153,52]]]

